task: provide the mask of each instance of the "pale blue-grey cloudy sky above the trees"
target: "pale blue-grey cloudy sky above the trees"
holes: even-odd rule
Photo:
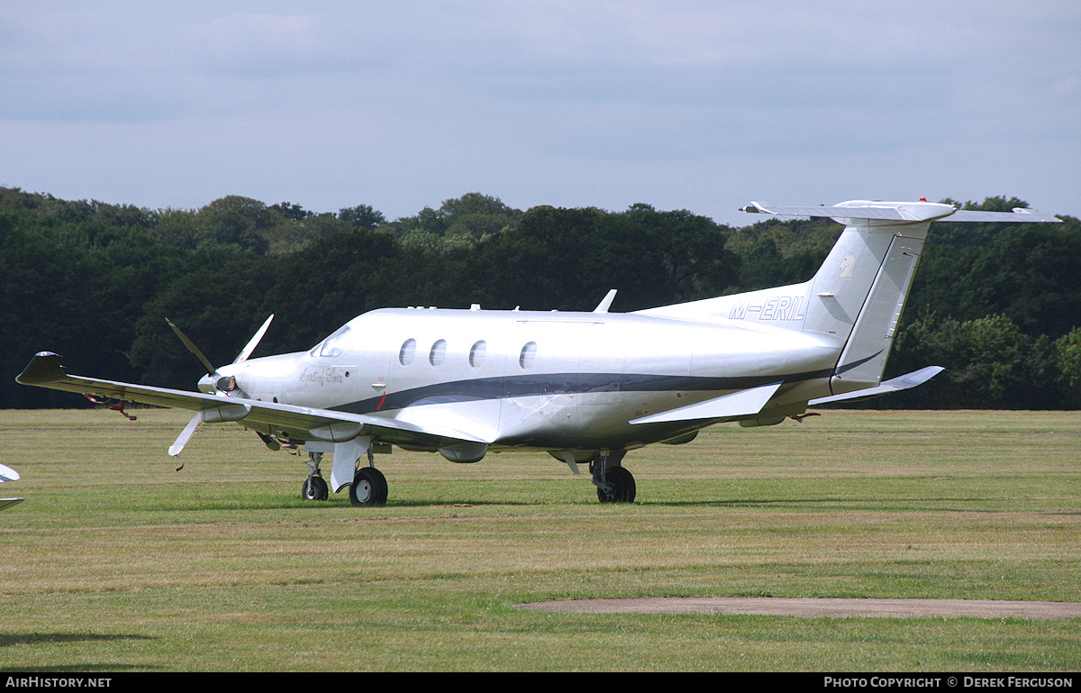
[[[1078,0],[0,0],[0,186],[68,200],[1081,216]]]

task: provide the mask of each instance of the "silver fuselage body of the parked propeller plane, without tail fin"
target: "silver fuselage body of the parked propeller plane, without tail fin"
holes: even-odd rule
[[[769,383],[784,385],[762,416],[800,413],[829,394],[839,354],[813,335],[736,321],[402,308],[358,316],[308,351],[219,371],[251,399],[438,421],[491,450],[592,451],[678,438],[719,419],[630,422]]]

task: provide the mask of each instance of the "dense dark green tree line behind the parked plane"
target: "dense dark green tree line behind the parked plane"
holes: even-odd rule
[[[953,202],[952,200],[945,200]],[[1027,206],[1014,198],[967,209]],[[886,375],[947,372],[877,407],[1081,405],[1081,223],[935,224]],[[840,226],[771,218],[742,228],[686,210],[536,206],[470,192],[388,221],[370,205],[315,213],[224,197],[147,210],[0,188],[0,407],[78,405],[14,376],[36,351],[74,373],[190,389],[276,314],[259,354],[305,349],[385,306],[629,311],[810,278]]]

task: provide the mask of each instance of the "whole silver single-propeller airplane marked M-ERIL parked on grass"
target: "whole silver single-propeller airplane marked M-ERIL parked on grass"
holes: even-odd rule
[[[845,228],[801,284],[628,314],[609,312],[615,290],[592,312],[388,308],[307,351],[251,359],[268,319],[221,368],[173,325],[206,369],[199,392],[69,375],[49,351],[16,379],[189,410],[171,455],[201,423],[236,422],[272,449],[303,445],[310,471],[302,490],[311,499],[348,487],[356,505],[386,502],[373,453],[398,445],[457,463],[547,452],[575,474],[588,463],[598,498],[626,503],[635,499],[623,466],[629,450],[685,443],[719,422],[778,424],[809,404],[905,389],[942,371],[881,382],[932,222],[1058,222],[925,200],[744,211],[832,217]]]

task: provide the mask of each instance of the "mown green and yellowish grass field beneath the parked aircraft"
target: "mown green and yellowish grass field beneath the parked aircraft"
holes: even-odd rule
[[[0,411],[0,669],[1081,669],[1081,619],[550,614],[630,596],[1081,601],[1081,413],[824,412],[633,451],[378,456],[390,498],[187,415]],[[329,466],[328,466],[329,471]]]

